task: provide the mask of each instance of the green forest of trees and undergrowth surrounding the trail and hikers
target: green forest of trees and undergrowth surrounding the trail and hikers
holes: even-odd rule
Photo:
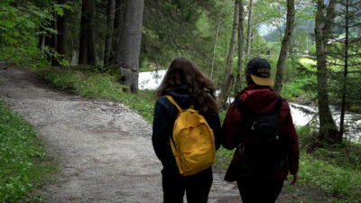
[[[290,192],[313,185],[325,202],[359,202],[361,0],[0,1],[2,69],[23,67],[55,88],[120,102],[149,123],[154,89],[139,88],[139,75],[167,69],[176,57],[214,81],[222,119],[246,86],[247,61],[270,61],[273,89],[311,117],[297,126],[304,171]],[[218,166],[231,155],[220,150]],[[26,180],[22,191],[7,193],[9,181],[21,185],[12,175],[0,170],[0,201],[16,202],[33,188]]]

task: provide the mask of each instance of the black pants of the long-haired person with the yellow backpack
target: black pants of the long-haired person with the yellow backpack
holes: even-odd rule
[[[207,203],[212,181],[210,169],[187,177],[162,174],[164,203],[182,203],[184,192],[188,203]]]

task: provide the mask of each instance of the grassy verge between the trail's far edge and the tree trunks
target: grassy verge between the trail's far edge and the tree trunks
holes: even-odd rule
[[[110,73],[50,68],[40,71],[39,74],[56,88],[69,90],[82,97],[121,102],[135,113],[143,115],[149,123],[153,122],[154,91],[144,90],[138,91],[138,94],[132,94],[116,81],[118,76]]]

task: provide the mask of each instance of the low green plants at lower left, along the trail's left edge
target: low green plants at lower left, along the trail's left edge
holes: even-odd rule
[[[0,101],[0,202],[33,200],[29,192],[55,171],[37,134]],[[39,200],[39,199],[38,199]]]

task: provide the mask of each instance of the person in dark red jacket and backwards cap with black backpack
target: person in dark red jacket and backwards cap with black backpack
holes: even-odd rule
[[[225,180],[236,180],[244,203],[274,202],[289,172],[292,184],[297,181],[298,137],[290,106],[271,88],[268,61],[258,57],[250,60],[245,78],[247,87],[229,106],[222,125],[223,147],[236,148]]]

